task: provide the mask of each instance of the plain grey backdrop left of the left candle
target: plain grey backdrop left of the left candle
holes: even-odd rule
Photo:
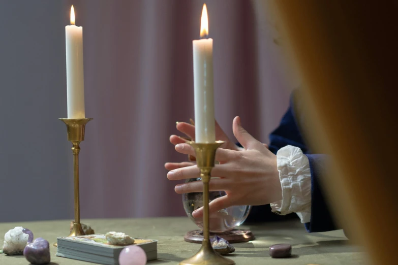
[[[0,1],[0,222],[73,217],[62,1]]]

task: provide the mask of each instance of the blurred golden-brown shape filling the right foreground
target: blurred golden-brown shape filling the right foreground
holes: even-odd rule
[[[373,264],[398,240],[396,2],[275,1],[307,94],[307,139],[331,154],[336,216]]]

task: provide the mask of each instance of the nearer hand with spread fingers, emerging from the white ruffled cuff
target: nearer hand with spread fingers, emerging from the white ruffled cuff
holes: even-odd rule
[[[189,124],[187,124],[189,125]],[[186,125],[183,125],[186,126]],[[187,131],[187,130],[185,130]],[[192,128],[190,133],[192,133]],[[264,205],[282,200],[282,187],[279,180],[277,156],[266,146],[254,139],[240,124],[240,118],[233,120],[233,133],[243,151],[219,148],[216,160],[220,164],[211,171],[210,191],[224,190],[227,195],[216,198],[209,204],[210,213],[233,205]],[[191,135],[192,136],[192,135]],[[185,143],[179,143],[175,150],[182,154],[195,155],[194,149]],[[198,178],[200,171],[192,163],[184,162],[184,167],[170,163],[167,178],[181,180]],[[201,192],[202,181],[178,184],[177,193]],[[203,208],[193,212],[193,217],[203,215]]]

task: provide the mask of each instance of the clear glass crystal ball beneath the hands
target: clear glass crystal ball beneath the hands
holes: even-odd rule
[[[189,179],[187,182],[201,180],[200,178]],[[215,198],[225,196],[224,191],[210,191],[209,202],[215,200]],[[182,204],[188,217],[196,223],[197,226],[203,229],[203,218],[194,218],[192,212],[203,206],[202,192],[191,192],[182,194]],[[209,230],[213,233],[223,233],[230,231],[236,226],[246,220],[248,217],[251,206],[231,206],[222,209],[216,213],[212,213],[209,216]]]

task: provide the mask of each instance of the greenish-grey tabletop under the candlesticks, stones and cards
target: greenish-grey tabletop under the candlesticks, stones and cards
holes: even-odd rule
[[[142,219],[87,219],[82,223],[91,225],[96,233],[108,231],[124,232],[132,237],[158,240],[158,260],[148,264],[178,264],[182,259],[195,254],[200,245],[187,243],[183,236],[188,230],[197,229],[187,217],[162,217]],[[15,226],[23,226],[33,231],[35,238],[42,237],[50,242],[52,264],[83,265],[89,262],[55,256],[56,247],[52,244],[57,237],[68,236],[70,221],[36,221],[0,223],[0,247],[3,247],[4,234]],[[298,221],[272,222],[260,225],[242,225],[251,229],[256,239],[251,242],[233,244],[235,252],[228,255],[236,264],[366,264],[366,255],[361,248],[350,244],[342,230],[309,234]],[[269,256],[269,246],[278,243],[292,245],[293,257],[274,259]],[[1,265],[26,265],[23,256],[0,254]]]

